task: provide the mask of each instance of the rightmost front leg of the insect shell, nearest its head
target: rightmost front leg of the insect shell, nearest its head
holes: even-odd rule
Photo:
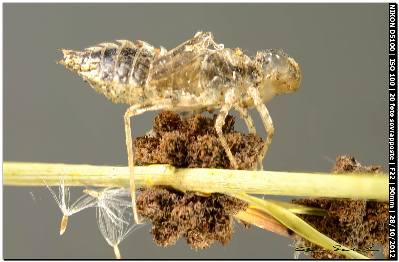
[[[269,148],[269,145],[273,138],[273,133],[274,133],[273,121],[269,114],[269,111],[267,110],[265,104],[263,103],[263,101],[261,99],[261,96],[259,95],[259,90],[253,86],[248,87],[247,95],[252,98],[253,103],[254,103],[256,109],[258,110],[259,115],[261,116],[263,125],[265,125],[265,129],[267,132],[267,138],[265,141],[265,145],[263,145],[263,148],[259,155],[260,169],[263,170],[263,164],[262,164],[263,157],[265,157],[267,149]]]

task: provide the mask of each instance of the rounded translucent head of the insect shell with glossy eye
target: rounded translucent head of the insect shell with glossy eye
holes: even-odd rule
[[[302,74],[296,63],[279,50],[262,50],[255,61],[263,69],[262,81],[258,84],[263,102],[278,94],[295,92],[300,85]]]

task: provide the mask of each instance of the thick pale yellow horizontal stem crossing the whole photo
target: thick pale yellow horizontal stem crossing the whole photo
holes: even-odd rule
[[[64,175],[69,186],[129,187],[128,167],[3,162],[3,185],[59,185]],[[307,197],[388,200],[388,176],[275,171],[177,168],[172,165],[134,167],[138,188],[167,186],[182,192],[249,193]]]

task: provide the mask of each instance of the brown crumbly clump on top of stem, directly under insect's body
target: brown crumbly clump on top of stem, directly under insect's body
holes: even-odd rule
[[[193,115],[182,121],[177,113],[163,111],[154,120],[155,137],[136,138],[135,159],[142,164],[231,169],[215,130],[217,115],[210,119]],[[222,128],[238,169],[252,170],[259,159],[263,140],[259,135],[234,132],[234,117],[228,115]]]

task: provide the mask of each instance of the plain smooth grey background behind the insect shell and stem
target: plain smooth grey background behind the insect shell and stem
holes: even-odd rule
[[[211,31],[217,43],[256,54],[282,49],[299,63],[296,93],[267,103],[275,135],[264,167],[329,172],[340,154],[388,166],[388,4],[4,4],[3,161],[127,165],[123,114],[55,60],[57,49],[83,50],[114,39],[168,50]],[[236,112],[233,112],[237,115]],[[133,117],[143,135],[156,112]],[[251,110],[257,130],[261,119]],[[242,119],[236,130],[247,132]],[[312,181],[309,181],[312,183]],[[30,195],[32,192],[34,198]],[[114,258],[95,208],[69,218],[44,187],[3,187],[3,258]],[[81,189],[71,191],[71,200]],[[289,197],[282,199],[289,200]],[[292,258],[292,240],[253,226],[237,228],[223,248],[164,249],[150,226],[120,245],[122,258]],[[308,258],[301,255],[302,258]]]

